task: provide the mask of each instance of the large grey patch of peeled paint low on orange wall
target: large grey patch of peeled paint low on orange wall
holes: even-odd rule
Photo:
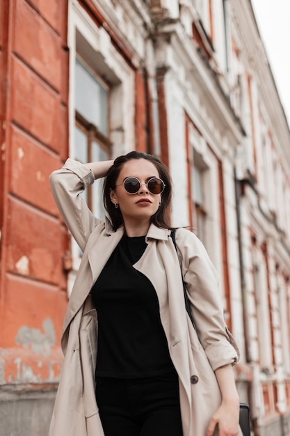
[[[23,325],[17,332],[15,342],[26,349],[31,347],[33,352],[37,354],[49,355],[51,347],[56,343],[54,323],[50,318],[47,318],[43,321],[42,327],[44,333],[40,329]]]

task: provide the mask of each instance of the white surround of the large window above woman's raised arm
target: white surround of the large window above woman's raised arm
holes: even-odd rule
[[[104,27],[98,27],[81,7],[77,0],[70,0],[68,8],[67,44],[70,49],[70,95],[69,95],[69,154],[74,156],[75,125],[75,68],[77,55],[76,38],[81,37],[98,54],[112,75],[118,80],[118,86],[111,88],[110,137],[113,148],[111,158],[126,154],[135,147],[135,74],[111,43],[111,37]],[[72,239],[72,270],[67,279],[67,295],[70,297],[76,272],[79,269],[81,256],[79,247]]]

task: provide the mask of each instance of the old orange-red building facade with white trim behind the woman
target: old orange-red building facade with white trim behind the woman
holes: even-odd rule
[[[290,132],[250,0],[0,0],[0,83],[3,435],[47,434],[63,362],[81,253],[49,173],[133,149],[218,270],[252,434],[290,435]]]

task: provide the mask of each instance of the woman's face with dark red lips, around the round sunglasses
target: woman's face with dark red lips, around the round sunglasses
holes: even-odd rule
[[[124,180],[136,177],[141,186],[137,194],[129,194],[124,189]],[[122,166],[115,189],[111,191],[111,201],[118,204],[124,224],[134,221],[148,221],[159,208],[161,194],[152,194],[145,183],[152,177],[158,177],[156,166],[147,159],[132,159]],[[119,186],[117,186],[119,185]]]

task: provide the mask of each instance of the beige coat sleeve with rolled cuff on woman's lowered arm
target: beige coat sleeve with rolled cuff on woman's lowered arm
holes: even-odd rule
[[[177,247],[182,256],[182,274],[200,343],[214,371],[239,361],[239,350],[223,316],[218,274],[202,242],[179,229]]]

